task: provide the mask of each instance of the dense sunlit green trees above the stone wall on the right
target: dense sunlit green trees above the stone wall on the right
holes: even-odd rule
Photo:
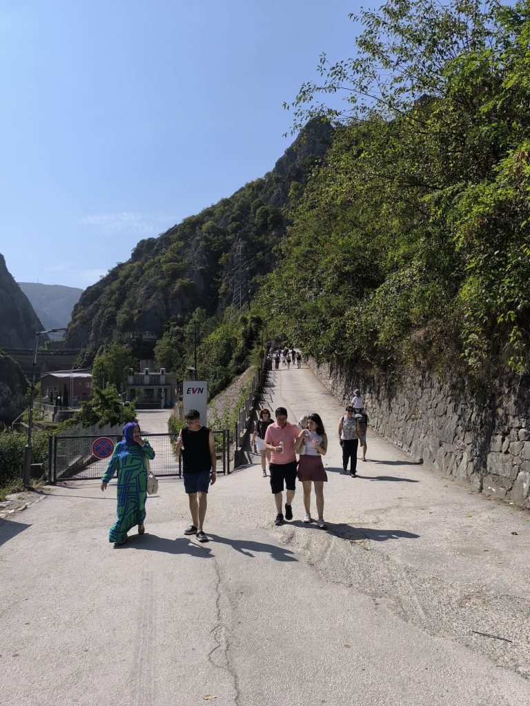
[[[528,366],[529,6],[390,0],[302,86],[334,145],[255,304],[317,359]],[[343,90],[345,110],[322,95]]]

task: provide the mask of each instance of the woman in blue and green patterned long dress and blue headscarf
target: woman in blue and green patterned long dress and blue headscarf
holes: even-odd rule
[[[123,428],[123,441],[114,447],[107,470],[101,479],[101,489],[118,472],[117,516],[118,519],[109,530],[109,542],[125,544],[127,532],[138,525],[138,534],[146,528],[147,468],[146,458],[155,457],[155,452],[148,441],[140,436],[140,427],[135,421],[129,421]]]

